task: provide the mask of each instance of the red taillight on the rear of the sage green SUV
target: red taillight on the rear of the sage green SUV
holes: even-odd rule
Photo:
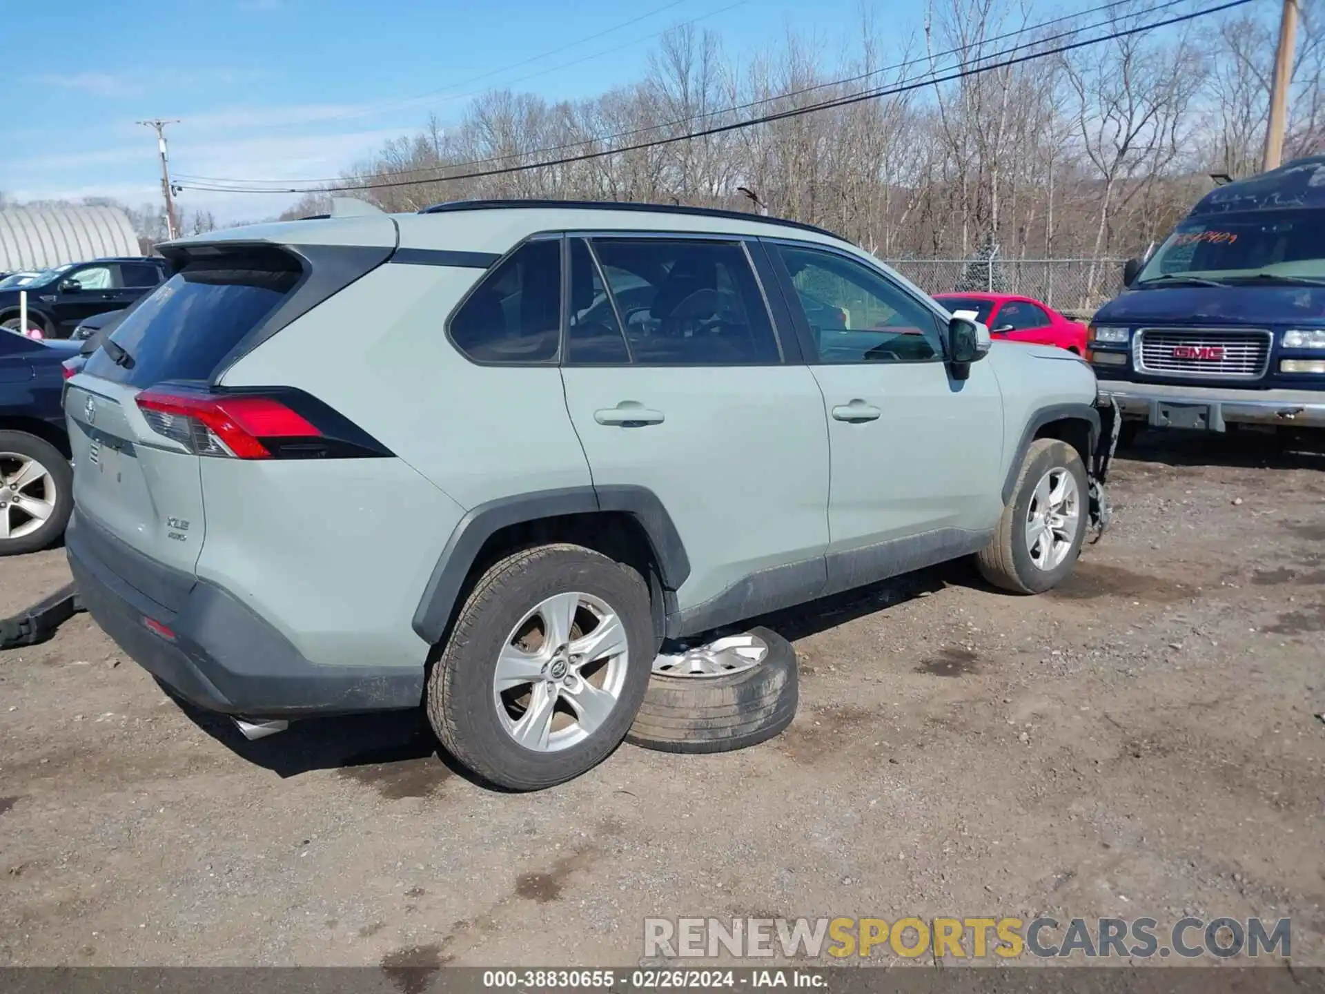
[[[152,431],[200,456],[272,459],[262,439],[321,439],[306,417],[269,396],[146,390],[138,407]]]

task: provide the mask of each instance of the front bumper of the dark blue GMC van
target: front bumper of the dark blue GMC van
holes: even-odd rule
[[[1181,406],[1207,408],[1208,417],[1199,427],[1216,432],[1224,431],[1228,424],[1325,428],[1325,391],[1177,387],[1101,379],[1100,395],[1117,400],[1124,416],[1141,417],[1146,424],[1159,428],[1174,424],[1174,411]],[[1181,411],[1178,420],[1185,420]]]

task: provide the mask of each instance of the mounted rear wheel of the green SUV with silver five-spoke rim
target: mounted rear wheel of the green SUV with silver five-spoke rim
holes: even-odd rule
[[[563,623],[570,632],[564,643],[567,649],[572,652],[578,639],[591,637],[599,631],[596,623],[606,618],[602,614],[606,610],[616,618],[624,634],[624,652],[594,656],[580,663],[551,648],[545,652],[542,640],[543,632],[549,631],[547,618],[563,616],[566,612],[558,612],[555,603],[567,602],[555,602],[553,608],[545,608],[545,604],[551,598],[570,594],[579,594],[580,598],[574,602],[578,604],[574,612],[576,620]],[[595,611],[600,614],[595,615]],[[576,635],[586,627],[587,636]],[[580,644],[588,645],[584,641]],[[428,721],[447,750],[488,782],[509,790],[551,787],[594,767],[621,742],[644,700],[655,645],[648,587],[635,570],[575,545],[526,549],[486,570],[456,616],[441,655],[428,675]],[[525,668],[533,667],[529,672],[534,679],[513,685],[514,689],[498,697],[498,655],[507,649],[518,664],[509,672],[525,673]],[[542,671],[538,669],[538,660],[545,660]],[[579,668],[586,675],[596,671],[584,680]],[[560,677],[560,681],[553,680],[553,676]],[[600,680],[600,685],[594,685],[595,680]],[[607,690],[616,697],[615,704],[603,708],[594,722],[580,705],[596,702],[602,706],[604,701],[591,697],[586,683],[599,693]],[[578,693],[574,690],[576,685]],[[550,712],[543,741],[537,741],[538,736],[531,729],[541,725],[531,718],[545,713],[545,709],[535,708],[535,702],[545,702],[550,694],[559,698],[554,705],[558,710]],[[530,718],[530,722],[521,724],[522,718]],[[533,745],[517,741],[517,734],[529,734]],[[578,736],[582,738],[576,741]]]

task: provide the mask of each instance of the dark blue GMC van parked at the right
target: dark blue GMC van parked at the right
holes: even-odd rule
[[[1212,190],[1124,281],[1086,358],[1125,429],[1325,428],[1325,155]]]

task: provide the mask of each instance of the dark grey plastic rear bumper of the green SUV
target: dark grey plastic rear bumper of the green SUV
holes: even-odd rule
[[[192,704],[225,714],[284,718],[416,708],[421,700],[421,665],[311,663],[228,591],[152,562],[77,510],[65,546],[78,594],[97,624]],[[166,626],[174,640],[150,630],[144,619]]]

